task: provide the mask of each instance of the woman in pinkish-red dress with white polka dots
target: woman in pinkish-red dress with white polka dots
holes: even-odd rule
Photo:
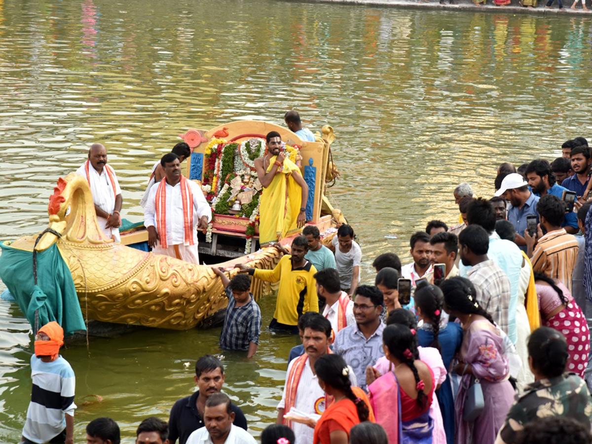
[[[535,284],[543,325],[565,336],[570,353],[567,370],[583,378],[590,353],[590,332],[584,313],[560,281],[535,273]]]

